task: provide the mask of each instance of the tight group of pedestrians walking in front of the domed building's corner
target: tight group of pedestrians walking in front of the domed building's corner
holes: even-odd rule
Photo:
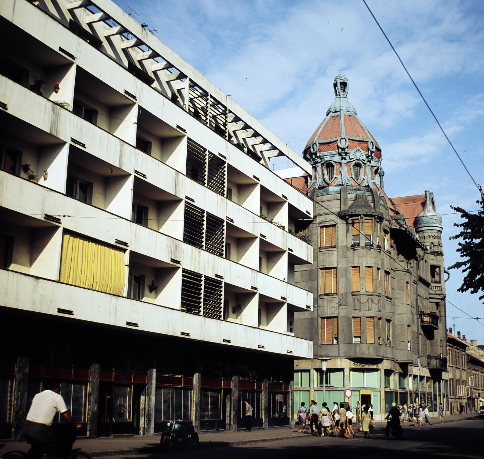
[[[370,431],[373,427],[373,406],[363,405],[360,408],[360,402],[356,403],[356,415],[351,411],[351,407],[347,408],[339,406],[338,403],[333,402],[333,410],[330,410],[328,404],[324,402],[321,410],[318,409],[318,403],[311,400],[309,411],[301,402],[298,410],[298,424],[299,431],[304,433],[306,421],[309,419],[309,432],[316,435],[316,431],[320,437],[340,436],[342,438],[356,438],[353,430],[353,419],[355,423],[363,429],[364,436],[370,437]],[[360,415],[361,413],[361,415]]]

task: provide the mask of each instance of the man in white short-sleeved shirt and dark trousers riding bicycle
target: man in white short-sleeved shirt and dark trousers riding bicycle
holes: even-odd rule
[[[72,439],[69,439],[70,441],[62,441],[52,429],[54,416],[59,412],[74,430],[72,417],[67,411],[60,392],[61,380],[57,376],[51,376],[45,383],[45,390],[37,394],[32,400],[22,429],[22,434],[27,443],[32,445],[29,451],[29,459],[40,459],[44,454],[49,459],[63,459],[71,450],[75,435]],[[77,424],[76,427],[80,428],[81,425]]]

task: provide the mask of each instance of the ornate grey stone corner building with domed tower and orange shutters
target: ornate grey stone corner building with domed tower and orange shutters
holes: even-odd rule
[[[310,398],[353,407],[361,400],[380,419],[393,401],[418,400],[435,414],[445,402],[448,412],[442,227],[433,194],[387,197],[381,149],[348,101],[346,76],[336,76],[334,94],[303,152],[314,169],[307,183],[314,220],[305,231],[314,259],[295,277],[313,292],[315,307],[296,313],[295,330],[313,341],[314,357],[295,362],[296,406]],[[301,181],[292,179],[299,189]],[[325,375],[320,358],[330,359]]]

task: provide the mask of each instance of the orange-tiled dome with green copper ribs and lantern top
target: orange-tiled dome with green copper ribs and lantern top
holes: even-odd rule
[[[381,149],[348,100],[348,78],[336,76],[333,89],[335,97],[326,118],[303,152],[313,166],[314,186],[369,186],[378,190]]]

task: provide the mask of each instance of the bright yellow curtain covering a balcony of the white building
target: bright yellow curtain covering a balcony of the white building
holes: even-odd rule
[[[124,252],[88,238],[64,234],[61,282],[122,295]]]

